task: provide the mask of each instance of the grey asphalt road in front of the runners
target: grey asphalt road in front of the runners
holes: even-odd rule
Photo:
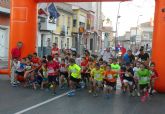
[[[65,92],[59,90],[56,96]],[[0,76],[0,114],[14,114],[56,96],[42,90],[11,87],[8,77]],[[165,114],[165,94],[141,103],[138,97],[129,97],[119,90],[109,100],[80,90],[75,97],[64,95],[24,114]]]

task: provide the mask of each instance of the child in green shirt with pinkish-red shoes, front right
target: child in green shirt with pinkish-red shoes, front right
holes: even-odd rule
[[[145,68],[145,65],[141,63],[140,70],[137,71],[137,76],[139,78],[139,87],[141,92],[141,101],[144,102],[149,96],[148,89],[150,83],[151,72]]]

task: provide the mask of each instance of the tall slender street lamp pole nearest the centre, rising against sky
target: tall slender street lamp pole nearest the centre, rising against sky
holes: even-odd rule
[[[119,7],[118,7],[118,12],[117,12],[117,18],[116,18],[116,34],[115,34],[115,57],[117,56],[117,53],[116,53],[116,47],[117,47],[117,37],[118,37],[118,21],[119,21],[119,13],[120,13],[120,4],[122,2],[119,3]]]

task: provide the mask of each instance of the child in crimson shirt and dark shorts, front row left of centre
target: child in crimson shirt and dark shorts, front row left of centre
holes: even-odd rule
[[[53,95],[55,95],[56,87],[58,85],[59,64],[56,61],[53,61],[51,55],[48,55],[47,60],[48,81],[52,85]]]

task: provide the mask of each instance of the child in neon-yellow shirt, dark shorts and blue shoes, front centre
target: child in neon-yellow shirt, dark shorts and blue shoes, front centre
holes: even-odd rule
[[[71,58],[69,62],[70,65],[68,67],[68,75],[70,78],[70,92],[68,93],[68,96],[74,96],[76,85],[80,82],[81,79],[81,68],[76,64],[75,59]]]

